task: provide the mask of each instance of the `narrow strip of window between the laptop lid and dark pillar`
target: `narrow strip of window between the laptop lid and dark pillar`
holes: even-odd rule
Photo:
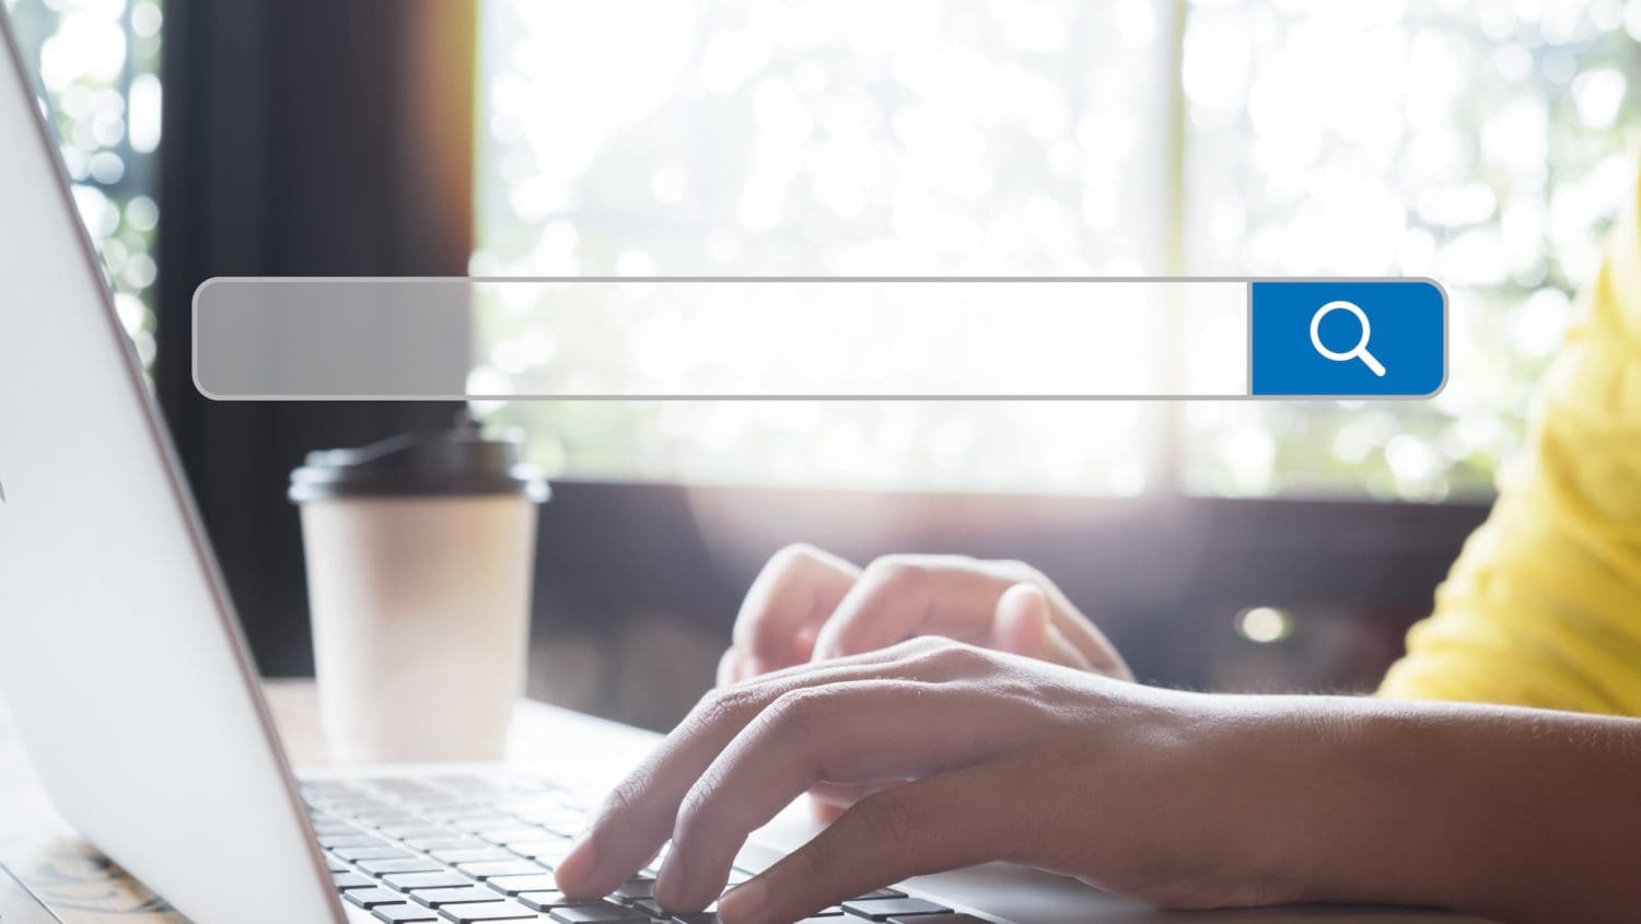
[[[154,151],[159,26],[154,0],[5,0],[26,66],[51,105],[80,220],[143,366],[154,359]]]

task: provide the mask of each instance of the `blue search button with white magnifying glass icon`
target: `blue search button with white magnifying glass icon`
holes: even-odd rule
[[[1428,279],[1252,282],[1255,396],[1429,397],[1447,379],[1447,295]]]

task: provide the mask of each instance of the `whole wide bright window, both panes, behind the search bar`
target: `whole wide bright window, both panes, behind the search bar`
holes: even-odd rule
[[[1431,274],[1452,294],[1429,402],[486,409],[571,476],[1485,494],[1634,179],[1638,0],[481,18],[474,272]],[[1190,333],[1136,348],[1180,364]]]

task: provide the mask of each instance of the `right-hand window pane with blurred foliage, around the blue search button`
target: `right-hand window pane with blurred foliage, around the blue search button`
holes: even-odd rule
[[[1191,8],[1193,272],[1406,274],[1452,297],[1429,402],[1185,409],[1206,494],[1488,489],[1638,172],[1641,3]]]

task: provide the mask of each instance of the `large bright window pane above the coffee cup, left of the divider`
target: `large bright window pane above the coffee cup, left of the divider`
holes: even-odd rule
[[[1155,271],[1142,0],[689,0],[481,8],[476,274]],[[660,20],[656,20],[660,16]],[[647,21],[643,34],[630,23]],[[837,363],[1145,366],[1136,336],[1063,356],[884,336]],[[502,340],[509,340],[502,332]],[[901,332],[907,333],[907,332]],[[916,332],[912,332],[916,333]],[[665,364],[688,317],[612,332]],[[824,343],[824,318],[793,336]],[[520,343],[527,325],[512,332]],[[940,348],[934,345],[939,341]],[[1137,346],[1139,345],[1139,346]],[[528,373],[501,346],[492,371]],[[760,358],[748,356],[747,363]],[[1159,417],[1131,404],[512,404],[543,464],[589,478],[1137,494]]]

